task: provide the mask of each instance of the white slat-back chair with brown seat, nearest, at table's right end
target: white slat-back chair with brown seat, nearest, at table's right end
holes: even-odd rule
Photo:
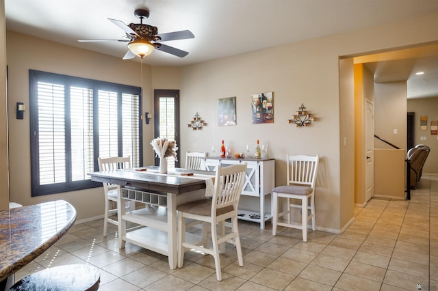
[[[177,206],[178,210],[178,268],[183,266],[185,249],[194,249],[209,255],[213,255],[216,266],[216,279],[222,280],[220,271],[219,245],[231,243],[237,250],[239,266],[244,265],[242,257],[242,245],[240,244],[239,230],[237,228],[237,206],[240,193],[242,192],[246,173],[246,163],[220,167],[216,169],[214,180],[213,197],[188,202]],[[185,219],[193,219],[203,224],[203,235],[201,241],[189,243],[185,233]],[[224,221],[231,219],[231,231],[224,232]],[[220,224],[219,231],[216,225]],[[210,230],[205,227],[210,225]],[[209,234],[213,249],[209,248]],[[224,250],[224,248],[223,248]]]

